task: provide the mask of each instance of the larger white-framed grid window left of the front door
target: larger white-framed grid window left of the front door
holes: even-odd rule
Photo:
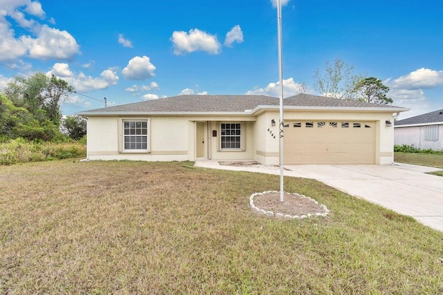
[[[148,120],[123,120],[123,151],[148,151]]]

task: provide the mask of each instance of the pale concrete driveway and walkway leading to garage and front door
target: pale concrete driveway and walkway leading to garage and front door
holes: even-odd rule
[[[225,166],[215,160],[197,161],[195,166],[280,175],[277,166]],[[285,176],[314,178],[443,231],[443,178],[425,174],[440,169],[409,164],[285,165],[284,168],[288,169]]]

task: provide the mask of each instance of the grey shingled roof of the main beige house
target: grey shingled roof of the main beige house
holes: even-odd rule
[[[251,113],[257,108],[278,108],[280,99],[265,95],[179,95],[161,99],[97,108],[78,115],[143,115],[143,114],[204,114]],[[284,106],[297,108],[374,108],[380,111],[407,111],[407,108],[384,104],[368,104],[349,99],[298,94],[284,99]]]

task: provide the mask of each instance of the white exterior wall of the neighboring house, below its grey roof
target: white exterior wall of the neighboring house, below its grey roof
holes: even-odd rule
[[[397,145],[406,144],[415,146],[417,149],[432,149],[434,151],[443,150],[443,124],[438,127],[438,138],[436,141],[424,140],[426,126],[397,126],[394,129],[394,143]]]

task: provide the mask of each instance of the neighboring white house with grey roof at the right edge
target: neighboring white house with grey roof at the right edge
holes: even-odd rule
[[[394,143],[417,149],[443,150],[443,110],[395,122]]]

